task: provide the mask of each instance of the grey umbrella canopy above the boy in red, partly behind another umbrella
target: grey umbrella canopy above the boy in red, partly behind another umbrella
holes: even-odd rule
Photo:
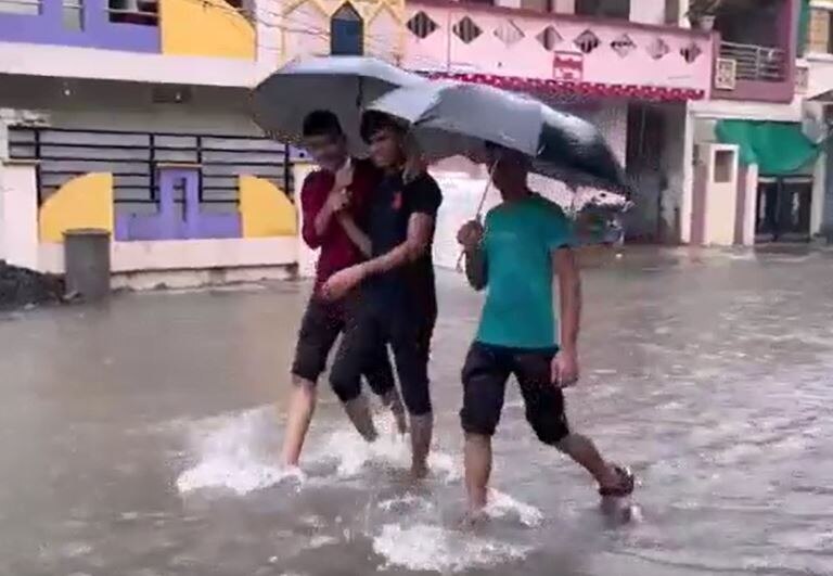
[[[426,81],[372,57],[312,57],[291,62],[260,82],[252,95],[253,115],[275,140],[297,144],[306,115],[329,110],[359,144],[362,106],[395,88]]]

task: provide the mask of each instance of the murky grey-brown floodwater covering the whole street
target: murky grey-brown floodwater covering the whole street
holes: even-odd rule
[[[628,523],[536,443],[512,389],[491,521],[458,529],[479,296],[438,283],[419,487],[406,445],[364,446],[326,386],[305,474],[275,464],[303,284],[0,317],[0,574],[833,574],[833,255],[636,251],[587,270],[568,407],[638,473]]]

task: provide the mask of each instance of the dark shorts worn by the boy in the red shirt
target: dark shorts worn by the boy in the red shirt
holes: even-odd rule
[[[292,363],[293,375],[318,382],[326,369],[326,359],[338,334],[344,331],[347,319],[356,312],[358,303],[349,296],[343,302],[326,302],[313,295],[307,304],[300,322],[295,360]],[[395,385],[387,348],[382,345],[369,351],[369,360],[362,374],[371,389],[382,395]]]

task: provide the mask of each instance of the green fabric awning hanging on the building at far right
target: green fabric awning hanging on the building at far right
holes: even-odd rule
[[[800,124],[783,121],[718,120],[717,140],[738,144],[743,164],[757,164],[761,176],[786,176],[816,162],[819,146]]]

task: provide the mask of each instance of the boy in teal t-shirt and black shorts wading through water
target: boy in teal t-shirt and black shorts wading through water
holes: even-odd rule
[[[477,336],[463,367],[465,485],[473,515],[486,505],[495,434],[510,374],[521,386],[526,418],[538,438],[582,465],[602,496],[624,497],[633,475],[606,462],[593,443],[572,433],[562,388],[578,380],[580,278],[569,220],[556,204],[529,191],[526,156],[491,149],[492,181],[503,202],[458,233],[465,271],[476,290],[488,287]],[[554,313],[559,277],[561,327]],[[559,328],[561,328],[559,337]]]

